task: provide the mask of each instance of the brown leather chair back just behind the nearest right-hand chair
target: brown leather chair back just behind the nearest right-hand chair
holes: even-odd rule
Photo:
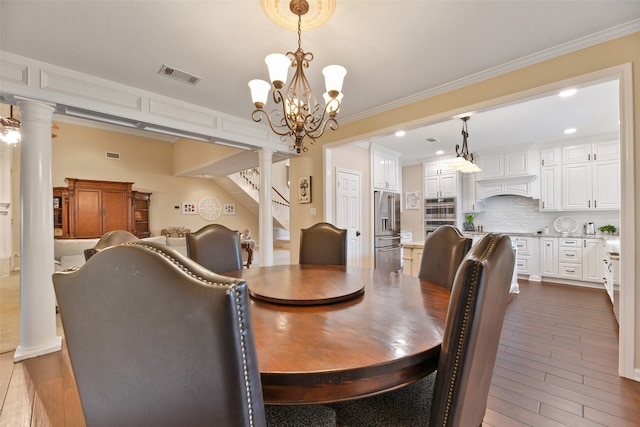
[[[451,290],[462,258],[473,241],[451,225],[442,225],[427,236],[418,277]]]

